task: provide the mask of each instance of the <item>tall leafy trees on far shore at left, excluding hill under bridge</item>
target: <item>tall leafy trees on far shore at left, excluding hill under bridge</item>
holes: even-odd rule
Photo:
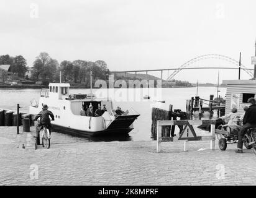
[[[42,82],[42,85],[48,85],[49,82],[59,82],[60,71],[62,71],[63,82],[81,84],[83,87],[89,87],[90,74],[93,71],[93,80],[106,80],[109,75],[109,69],[105,61],[85,61],[75,60],[58,62],[50,57],[48,53],[42,52],[35,58],[32,67],[27,67],[26,59],[19,56],[9,56],[9,54],[0,56],[0,65],[10,65],[8,72],[1,71],[0,80],[3,84],[11,81],[30,80],[32,82]],[[31,74],[26,74],[27,71]]]

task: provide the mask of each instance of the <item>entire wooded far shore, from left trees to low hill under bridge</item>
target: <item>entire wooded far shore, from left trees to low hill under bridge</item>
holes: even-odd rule
[[[59,82],[60,71],[62,71],[62,82],[70,83],[71,87],[89,88],[90,71],[93,71],[93,85],[96,80],[106,80],[108,84],[109,69],[103,60],[85,61],[77,59],[75,61],[64,60],[58,62],[48,53],[42,52],[35,58],[32,67],[27,66],[27,60],[22,56],[9,56],[9,54],[0,56],[0,65],[10,65],[9,71],[0,70],[0,88],[13,87],[45,87],[49,82]],[[125,80],[127,85],[129,80],[145,80],[144,75],[140,76],[120,76],[114,75],[115,80]],[[155,80],[154,87],[157,87],[157,77],[151,76]],[[140,84],[140,82],[138,82]],[[181,80],[172,80],[165,82],[163,87],[193,87],[190,82]],[[140,85],[142,87],[142,85]]]

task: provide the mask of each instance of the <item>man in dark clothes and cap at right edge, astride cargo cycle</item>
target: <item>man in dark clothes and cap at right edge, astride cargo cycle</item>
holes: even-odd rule
[[[238,134],[238,143],[236,153],[243,152],[243,138],[247,129],[256,127],[256,100],[255,98],[249,98],[248,103],[250,103],[250,107],[247,111],[245,111],[243,126],[240,129]]]

